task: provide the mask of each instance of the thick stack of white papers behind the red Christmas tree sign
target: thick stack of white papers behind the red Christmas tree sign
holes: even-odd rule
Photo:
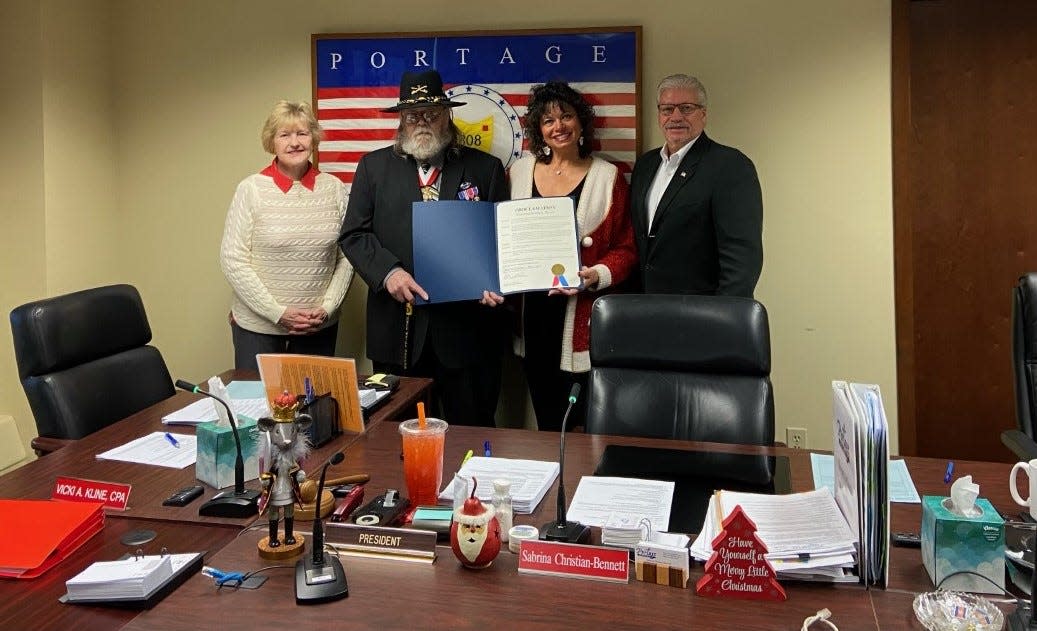
[[[756,524],[778,578],[857,581],[853,533],[828,489],[791,495],[718,491],[692,544],[693,557],[709,559],[722,522],[738,505]]]

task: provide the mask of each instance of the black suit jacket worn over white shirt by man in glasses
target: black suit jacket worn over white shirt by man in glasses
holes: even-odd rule
[[[630,179],[642,291],[752,298],[763,268],[763,200],[753,162],[703,133],[648,226],[648,189],[662,161],[658,148],[644,154]]]

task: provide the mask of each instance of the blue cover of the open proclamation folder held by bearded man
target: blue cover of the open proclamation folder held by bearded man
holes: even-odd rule
[[[414,279],[428,293],[429,303],[479,300],[483,290],[502,293],[496,207],[491,201],[454,199],[414,202]],[[576,235],[574,217],[572,230]],[[579,248],[573,256],[579,263]],[[569,277],[576,283],[565,286],[577,286],[579,277]],[[551,287],[550,273],[545,281],[537,289]]]

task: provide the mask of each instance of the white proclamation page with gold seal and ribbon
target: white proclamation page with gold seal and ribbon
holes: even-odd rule
[[[502,294],[579,287],[572,199],[534,197],[498,203],[497,256]]]

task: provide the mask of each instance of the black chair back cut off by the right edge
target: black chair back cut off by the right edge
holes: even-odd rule
[[[1037,438],[1037,273],[1020,277],[1012,292],[1012,367],[1016,422]]]

